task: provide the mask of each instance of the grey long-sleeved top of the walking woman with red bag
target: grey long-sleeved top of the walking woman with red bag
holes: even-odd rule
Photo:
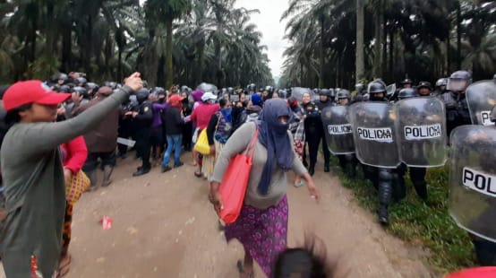
[[[255,123],[246,123],[239,127],[227,143],[224,145],[222,152],[218,156],[218,160],[215,164],[214,174],[210,180],[221,182],[224,173],[226,172],[227,166],[231,158],[234,158],[236,154],[244,152],[252,136],[256,130]],[[293,137],[291,133],[288,132],[289,138],[291,140],[291,145],[293,145]],[[287,150],[287,152],[294,152],[295,149]],[[250,178],[248,180],[248,187],[246,189],[246,195],[244,197],[244,204],[249,204],[260,209],[266,209],[271,205],[278,204],[284,195],[286,195],[287,190],[287,178],[286,171],[278,167],[278,163],[274,163],[274,168],[272,169],[272,178],[270,179],[269,192],[267,195],[260,195],[258,192],[258,186],[261,180],[261,174],[265,167],[265,162],[267,161],[267,149],[257,140],[255,152],[252,160],[252,171],[250,172]],[[296,175],[303,176],[307,173],[304,168],[302,161],[298,159],[298,155],[295,153],[293,159],[293,170]]]

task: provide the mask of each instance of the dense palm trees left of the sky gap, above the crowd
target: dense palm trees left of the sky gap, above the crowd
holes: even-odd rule
[[[273,83],[258,11],[235,0],[1,1],[0,81],[139,70],[151,85]]]

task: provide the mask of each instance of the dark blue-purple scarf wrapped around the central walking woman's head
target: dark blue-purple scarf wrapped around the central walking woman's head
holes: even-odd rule
[[[279,117],[288,117],[286,124],[279,122]],[[272,178],[273,163],[277,161],[277,167],[289,170],[293,167],[295,155],[293,145],[287,135],[289,123],[293,120],[293,111],[285,100],[267,100],[261,111],[259,126],[259,142],[267,149],[267,162],[261,174],[258,191],[261,195],[267,195],[270,180]]]

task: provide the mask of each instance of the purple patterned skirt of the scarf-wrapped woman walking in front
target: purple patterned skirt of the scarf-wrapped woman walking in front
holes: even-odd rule
[[[239,240],[263,272],[272,277],[275,260],[286,249],[287,218],[286,195],[279,204],[264,210],[244,204],[236,222],[226,225],[226,239]]]

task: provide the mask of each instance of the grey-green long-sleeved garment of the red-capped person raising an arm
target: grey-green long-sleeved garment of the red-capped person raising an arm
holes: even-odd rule
[[[98,126],[133,90],[127,86],[78,117],[58,123],[18,123],[1,151],[7,217],[1,252],[7,277],[30,277],[36,256],[43,277],[60,258],[65,213],[64,170],[58,146]]]

